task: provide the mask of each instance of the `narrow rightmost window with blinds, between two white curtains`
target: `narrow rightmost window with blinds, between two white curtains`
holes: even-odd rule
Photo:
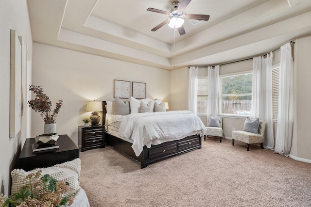
[[[280,66],[274,65],[272,67],[272,118],[277,120],[278,113],[278,78],[280,73]]]

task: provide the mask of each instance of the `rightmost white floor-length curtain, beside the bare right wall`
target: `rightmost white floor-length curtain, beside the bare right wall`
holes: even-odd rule
[[[289,156],[293,138],[294,68],[290,43],[281,47],[275,152]]]

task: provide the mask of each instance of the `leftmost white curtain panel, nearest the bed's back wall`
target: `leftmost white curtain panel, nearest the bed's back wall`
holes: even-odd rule
[[[196,113],[198,67],[189,67],[188,110]]]

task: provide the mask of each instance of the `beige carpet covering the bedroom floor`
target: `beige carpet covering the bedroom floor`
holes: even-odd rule
[[[311,164],[207,138],[140,169],[111,146],[80,153],[91,207],[311,207]]]

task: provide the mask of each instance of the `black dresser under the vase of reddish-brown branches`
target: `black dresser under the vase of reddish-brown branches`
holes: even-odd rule
[[[19,169],[29,171],[79,158],[79,147],[66,134],[59,135],[57,139],[59,150],[57,151],[33,154],[32,143],[35,143],[35,138],[26,139],[18,157],[17,167]]]

